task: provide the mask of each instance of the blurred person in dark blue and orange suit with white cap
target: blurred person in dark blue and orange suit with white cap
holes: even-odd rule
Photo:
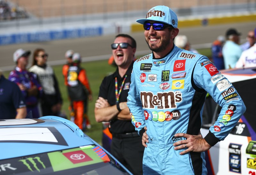
[[[212,43],[212,59],[217,69],[225,69],[224,60],[222,55],[222,47],[225,42],[224,36],[220,35]]]

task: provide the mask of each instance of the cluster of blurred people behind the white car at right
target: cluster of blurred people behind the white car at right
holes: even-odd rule
[[[236,29],[226,31],[226,40],[220,35],[212,43],[212,59],[218,69],[246,68],[256,66],[256,28],[250,30],[246,42],[240,45]]]

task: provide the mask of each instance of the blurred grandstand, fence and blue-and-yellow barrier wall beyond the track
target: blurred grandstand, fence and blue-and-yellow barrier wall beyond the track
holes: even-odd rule
[[[142,31],[136,19],[159,4],[179,28],[256,21],[256,0],[0,0],[0,45]]]

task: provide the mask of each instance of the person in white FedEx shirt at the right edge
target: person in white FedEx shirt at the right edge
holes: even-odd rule
[[[254,30],[254,40],[256,39],[256,28]],[[236,62],[236,68],[256,67],[256,43],[249,49],[242,52],[239,60]]]

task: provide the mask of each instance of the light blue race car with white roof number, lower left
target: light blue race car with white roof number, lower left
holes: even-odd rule
[[[0,120],[0,174],[132,174],[69,120]]]

